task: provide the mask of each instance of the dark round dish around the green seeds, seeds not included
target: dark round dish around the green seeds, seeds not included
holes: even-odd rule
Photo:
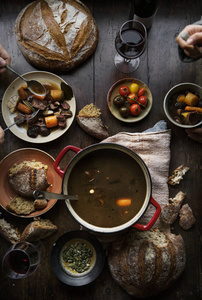
[[[89,270],[83,273],[66,270],[62,263],[62,253],[66,245],[74,245],[75,241],[83,242],[92,250],[92,263]],[[53,245],[51,251],[51,266],[56,277],[69,286],[84,286],[94,281],[105,264],[105,253],[98,239],[87,231],[69,231],[62,235]]]

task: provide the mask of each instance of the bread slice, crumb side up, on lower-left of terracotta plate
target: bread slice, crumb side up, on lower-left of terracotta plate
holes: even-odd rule
[[[34,200],[15,196],[6,208],[17,215],[29,215],[35,211]]]

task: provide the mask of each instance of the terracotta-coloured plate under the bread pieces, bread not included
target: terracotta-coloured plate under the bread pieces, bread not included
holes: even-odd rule
[[[16,196],[16,192],[10,187],[8,182],[8,170],[12,167],[14,163],[21,163],[25,160],[36,160],[40,161],[43,164],[48,166],[47,179],[51,184],[50,191],[54,193],[61,193],[61,183],[62,178],[55,172],[54,170],[54,159],[49,154],[42,150],[34,149],[34,148],[22,148],[16,151],[11,152],[3,160],[0,162],[0,205],[3,209],[5,209],[8,213],[15,215],[21,218],[33,218],[38,217],[48,210],[50,210],[55,203],[56,199],[52,199],[48,201],[48,205],[46,208],[42,210],[36,210],[29,215],[17,215],[7,210],[6,206],[8,203]],[[33,199],[34,201],[34,199]]]

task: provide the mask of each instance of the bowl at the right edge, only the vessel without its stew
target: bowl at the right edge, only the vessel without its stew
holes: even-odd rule
[[[190,82],[185,82],[185,83],[180,83],[175,85],[174,87],[172,87],[167,94],[164,97],[164,101],[163,101],[163,109],[164,109],[164,113],[166,115],[166,117],[168,118],[168,120],[173,123],[174,125],[178,126],[178,127],[182,127],[182,128],[193,128],[193,127],[197,127],[199,125],[202,124],[202,119],[201,121],[199,121],[198,123],[194,124],[194,125],[185,125],[185,124],[180,124],[178,122],[176,122],[169,114],[169,101],[172,98],[172,96],[174,94],[180,93],[180,92],[185,92],[185,91],[191,91],[197,95],[200,96],[200,99],[202,99],[202,87],[195,84],[195,83],[190,83]]]

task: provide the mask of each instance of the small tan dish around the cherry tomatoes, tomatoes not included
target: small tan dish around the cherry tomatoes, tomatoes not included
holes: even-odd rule
[[[119,95],[119,88],[122,85],[126,85],[128,87],[130,87],[130,85],[132,83],[137,83],[139,85],[139,88],[145,88],[145,96],[147,96],[148,98],[148,105],[145,109],[141,110],[141,113],[138,116],[129,116],[127,118],[124,118],[120,115],[118,108],[113,104],[113,99]],[[120,79],[119,81],[117,81],[116,83],[114,83],[112,85],[112,87],[110,88],[108,95],[107,95],[107,104],[109,107],[110,112],[112,113],[112,115],[117,118],[120,121],[126,122],[126,123],[134,123],[134,122],[138,122],[142,119],[144,119],[150,112],[151,108],[152,108],[152,104],[153,104],[153,97],[152,97],[152,93],[150,91],[150,89],[148,88],[148,86],[142,82],[141,80],[135,79],[135,78],[123,78]]]

